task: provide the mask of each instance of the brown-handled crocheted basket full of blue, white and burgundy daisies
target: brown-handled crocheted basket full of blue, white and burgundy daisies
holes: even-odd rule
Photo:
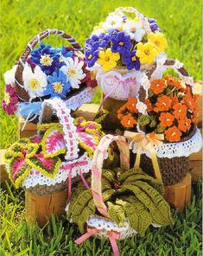
[[[41,43],[49,35],[59,35],[71,48],[53,48]],[[4,74],[3,110],[27,121],[36,121],[44,99],[58,97],[71,110],[91,101],[96,80],[86,69],[85,56],[71,35],[57,29],[46,29],[36,35],[24,49],[17,64]],[[51,114],[51,113],[50,113]]]

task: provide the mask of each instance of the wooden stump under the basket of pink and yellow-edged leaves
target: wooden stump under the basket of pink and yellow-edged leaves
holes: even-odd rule
[[[61,216],[65,214],[67,206],[67,189],[52,195],[34,195],[25,193],[25,209],[27,220],[33,224],[36,220],[43,227],[53,214]]]

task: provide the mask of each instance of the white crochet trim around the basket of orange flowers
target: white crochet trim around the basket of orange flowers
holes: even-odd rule
[[[162,146],[155,146],[156,156],[157,157],[189,157],[189,155],[198,152],[202,147],[202,138],[201,132],[197,129],[192,138],[187,141],[179,143],[164,143]],[[133,153],[136,153],[137,146],[133,145]],[[149,151],[143,150],[143,154],[150,157]]]

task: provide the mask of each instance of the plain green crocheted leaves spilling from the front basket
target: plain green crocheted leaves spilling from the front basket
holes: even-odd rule
[[[86,181],[91,183],[91,177]],[[162,183],[148,176],[140,168],[123,172],[120,168],[103,170],[102,195],[111,221],[118,227],[128,219],[130,226],[144,235],[150,224],[168,225],[172,222],[168,203],[162,197]],[[102,217],[94,207],[92,194],[82,182],[73,188],[67,218],[84,233],[91,215]]]

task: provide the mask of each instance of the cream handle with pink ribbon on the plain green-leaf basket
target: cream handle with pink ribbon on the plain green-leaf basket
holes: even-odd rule
[[[109,214],[102,197],[102,167],[106,152],[113,141],[117,142],[120,151],[121,168],[123,170],[130,169],[130,150],[126,139],[123,136],[113,136],[110,134],[101,138],[92,160],[92,196],[96,208],[106,217],[109,217]]]

